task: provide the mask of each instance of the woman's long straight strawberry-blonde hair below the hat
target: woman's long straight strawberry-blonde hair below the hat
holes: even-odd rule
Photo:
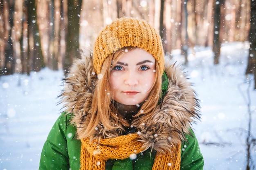
[[[104,127],[104,131],[106,132],[117,129],[124,130],[124,127],[130,126],[130,124],[125,119],[122,119],[121,115],[117,113],[117,109],[115,108],[111,97],[112,92],[110,89],[109,77],[112,66],[115,66],[124,49],[132,50],[135,48],[137,47],[124,47],[116,53],[112,53],[106,57],[101,68],[101,74],[98,75],[98,81],[92,98],[92,115],[85,130],[87,137],[94,138],[95,134],[99,134],[95,133],[99,124]],[[139,122],[143,123],[144,116],[150,117],[153,115],[159,97],[161,96],[162,72],[158,62],[155,62],[155,70],[155,83],[150,89],[151,93],[148,96],[148,99],[142,104],[139,112],[134,116],[134,119],[137,119],[136,124]]]

